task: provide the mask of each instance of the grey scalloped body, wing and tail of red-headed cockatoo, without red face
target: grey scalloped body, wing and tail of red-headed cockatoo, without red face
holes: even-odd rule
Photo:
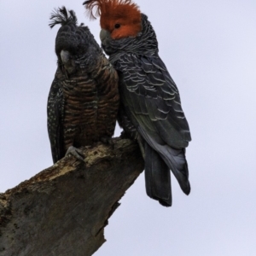
[[[158,44],[148,17],[135,38],[103,38],[102,48],[119,73],[121,108],[119,125],[129,131],[127,117],[143,137],[148,196],[172,205],[169,170],[189,195],[189,168],[185,148],[191,140],[177,85],[158,55]],[[121,111],[119,111],[121,113]],[[122,119],[125,118],[125,121]],[[126,127],[125,124],[128,124]]]

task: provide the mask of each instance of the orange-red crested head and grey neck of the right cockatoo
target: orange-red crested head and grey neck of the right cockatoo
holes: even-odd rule
[[[131,0],[87,0],[83,3],[91,19],[100,16],[102,49],[111,56],[158,51],[154,29]]]

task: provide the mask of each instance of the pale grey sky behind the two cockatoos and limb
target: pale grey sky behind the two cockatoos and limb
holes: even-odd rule
[[[0,0],[0,192],[52,165],[46,102],[56,68],[49,14],[65,5],[99,42],[81,1]],[[150,200],[143,174],[96,256],[256,255],[256,1],[137,0],[181,94],[191,194]],[[119,130],[116,131],[119,134]]]

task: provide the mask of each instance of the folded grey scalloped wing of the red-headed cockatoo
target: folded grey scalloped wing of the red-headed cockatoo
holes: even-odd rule
[[[154,131],[156,141],[185,148],[191,140],[177,86],[158,55],[122,55],[114,66],[121,73],[120,92],[145,131]],[[156,138],[159,136],[159,138]]]

